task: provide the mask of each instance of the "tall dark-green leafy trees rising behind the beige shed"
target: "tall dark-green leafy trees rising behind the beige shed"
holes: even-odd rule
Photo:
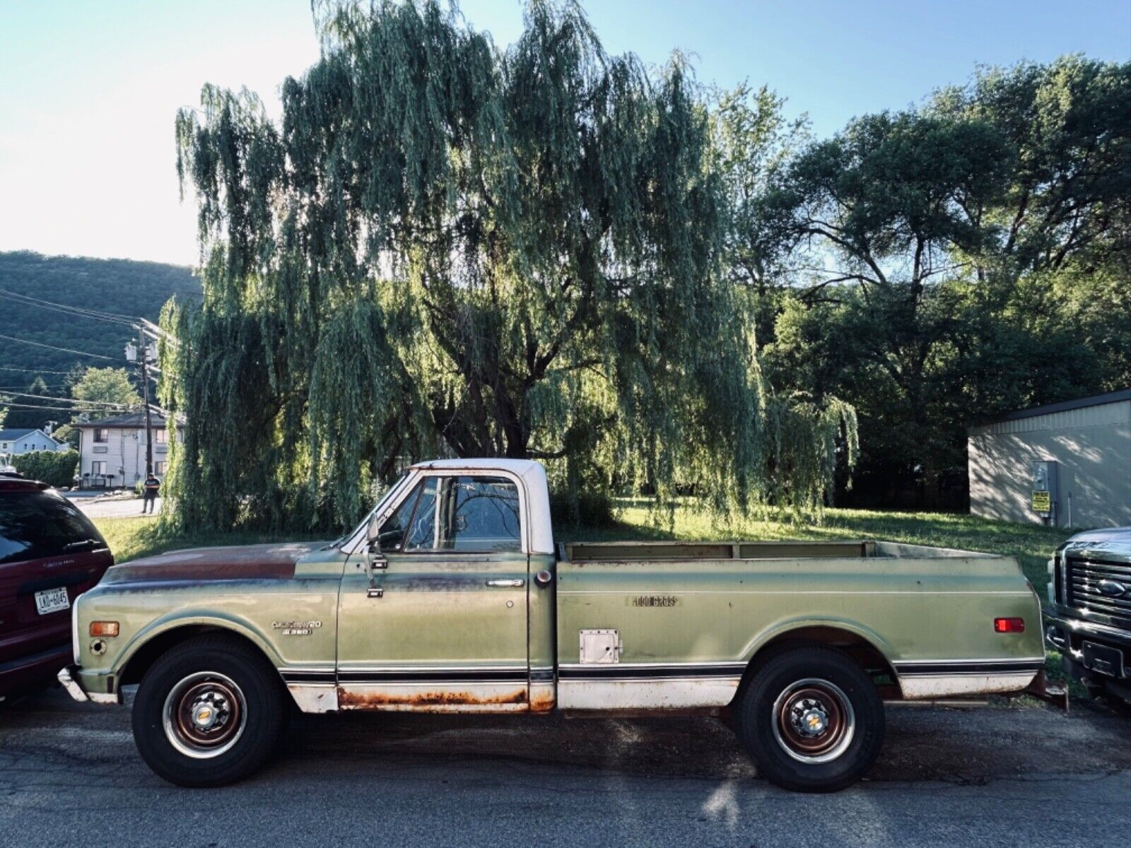
[[[969,425],[1131,383],[1128,162],[1131,63],[1069,57],[985,69],[774,172],[751,231],[788,284],[767,375],[856,408],[881,502],[956,504]]]

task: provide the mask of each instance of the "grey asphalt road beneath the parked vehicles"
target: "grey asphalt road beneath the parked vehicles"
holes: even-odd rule
[[[1131,719],[896,707],[870,779],[795,795],[706,718],[297,717],[279,756],[180,789],[129,713],[52,690],[0,710],[0,845],[1117,845]]]

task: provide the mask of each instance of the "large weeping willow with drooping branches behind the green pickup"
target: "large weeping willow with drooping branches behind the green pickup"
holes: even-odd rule
[[[176,120],[199,308],[166,309],[188,415],[174,520],[345,523],[405,459],[550,460],[556,486],[812,503],[839,412],[763,388],[683,60],[607,55],[576,5],[507,51],[437,2],[316,6],[282,120]]]

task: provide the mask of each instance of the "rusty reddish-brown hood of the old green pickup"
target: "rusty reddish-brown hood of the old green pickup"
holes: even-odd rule
[[[231,547],[192,547],[114,565],[103,583],[170,580],[290,580],[300,557],[325,545],[286,542]]]

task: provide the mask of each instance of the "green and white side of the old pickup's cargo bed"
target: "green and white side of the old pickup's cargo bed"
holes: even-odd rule
[[[566,709],[723,707],[777,640],[853,646],[907,699],[1017,691],[1044,664],[1033,589],[998,554],[872,539],[582,542],[560,546],[556,583]],[[1003,634],[996,618],[1027,621]]]

